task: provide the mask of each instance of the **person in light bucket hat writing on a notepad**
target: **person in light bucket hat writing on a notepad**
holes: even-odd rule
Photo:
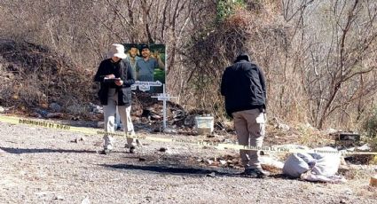
[[[130,120],[131,110],[131,88],[135,82],[135,75],[130,67],[130,62],[125,60],[127,55],[124,53],[122,44],[113,44],[108,52],[109,58],[103,60],[96,75],[94,82],[100,82],[98,98],[102,106],[104,106],[105,131],[114,132],[114,120],[116,107],[118,107],[124,131],[126,134],[134,136],[132,121]],[[124,59],[124,60],[123,60]],[[130,153],[135,153],[135,139],[127,137]],[[101,153],[108,154],[113,150],[114,137],[105,134],[104,150]]]

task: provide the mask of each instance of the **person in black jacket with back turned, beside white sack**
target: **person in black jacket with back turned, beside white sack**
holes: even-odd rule
[[[226,113],[233,118],[239,145],[262,146],[264,137],[266,85],[262,70],[247,53],[240,54],[231,67],[226,67],[221,82]],[[261,167],[259,153],[240,150],[244,175],[267,177]]]

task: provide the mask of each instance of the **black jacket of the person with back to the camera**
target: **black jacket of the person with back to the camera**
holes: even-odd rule
[[[241,54],[231,67],[226,67],[221,82],[226,113],[250,109],[265,109],[266,86],[261,69]]]

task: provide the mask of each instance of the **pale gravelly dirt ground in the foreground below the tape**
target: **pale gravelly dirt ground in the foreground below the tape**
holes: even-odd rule
[[[0,122],[0,203],[375,203],[369,173],[345,184],[310,183],[280,174],[240,177],[242,169],[197,161],[232,150],[141,141],[131,154],[116,137],[102,155],[101,136]],[[139,132],[143,135],[147,133]],[[156,137],[185,137],[155,135]],[[197,137],[196,137],[197,138]],[[167,152],[159,151],[161,147]]]

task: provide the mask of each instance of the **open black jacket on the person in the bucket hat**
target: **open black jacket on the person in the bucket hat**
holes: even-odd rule
[[[114,82],[104,82],[106,75],[115,75],[115,78],[121,78],[122,86],[117,86]],[[99,64],[94,82],[100,82],[98,98],[101,105],[107,105],[107,94],[110,88],[115,88],[118,92],[118,106],[131,106],[131,88],[135,83],[135,75],[130,67],[130,62],[121,59],[113,63],[111,59],[105,59]]]

